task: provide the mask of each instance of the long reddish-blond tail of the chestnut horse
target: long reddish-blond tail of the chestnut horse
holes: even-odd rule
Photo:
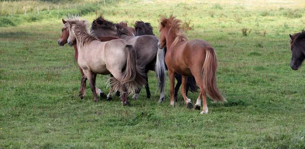
[[[201,71],[203,87],[207,95],[216,101],[226,101],[216,84],[217,57],[214,48],[205,48],[205,61]]]

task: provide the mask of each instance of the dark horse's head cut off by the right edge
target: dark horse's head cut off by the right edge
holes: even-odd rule
[[[297,70],[305,59],[305,31],[290,36],[290,50],[292,53],[290,67]]]

